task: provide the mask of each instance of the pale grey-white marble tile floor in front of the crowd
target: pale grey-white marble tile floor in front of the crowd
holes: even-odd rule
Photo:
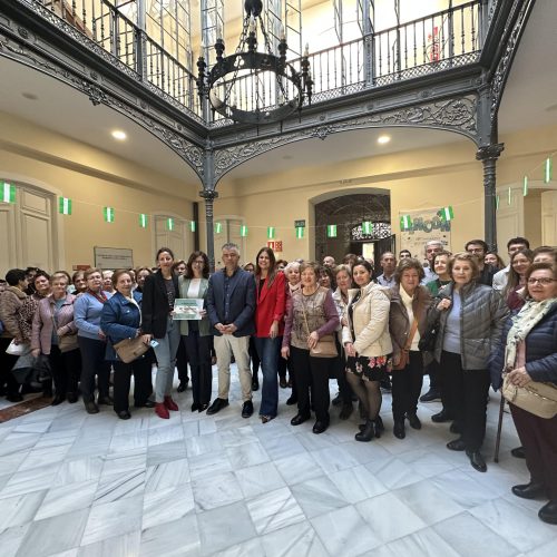
[[[216,375],[216,373],[215,373]],[[215,384],[216,388],[216,384]],[[424,390],[427,387],[424,387]],[[336,385],[331,382],[334,394]],[[539,501],[510,487],[528,479],[505,414],[501,457],[492,462],[499,398],[491,393],[479,473],[444,444],[438,403],[421,404],[421,431],[354,441],[356,412],[330,429],[296,428],[281,390],[280,416],[242,419],[237,378],[231,405],[211,417],[152,410],[121,421],[111,409],[48,407],[0,424],[2,557],[133,556],[531,556],[557,555],[557,527]]]

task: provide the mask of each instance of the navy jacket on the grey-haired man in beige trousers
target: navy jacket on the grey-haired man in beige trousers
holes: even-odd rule
[[[228,325],[234,323],[237,331],[234,336],[247,336],[255,333],[253,320],[255,313],[255,280],[243,268],[228,278],[228,291],[225,300],[226,271],[217,271],[209,278],[207,291],[207,313],[212,333],[221,336],[215,329],[217,323]]]

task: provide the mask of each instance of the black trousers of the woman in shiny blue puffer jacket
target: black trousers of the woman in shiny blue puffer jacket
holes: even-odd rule
[[[114,411],[129,410],[129,387],[131,374],[134,374],[134,403],[138,407],[145,404],[153,394],[153,382],[150,373],[150,360],[138,358],[130,363],[113,362],[113,399]]]

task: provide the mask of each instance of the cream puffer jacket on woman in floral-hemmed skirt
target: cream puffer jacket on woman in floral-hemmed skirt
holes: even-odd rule
[[[352,303],[355,294],[360,299]],[[349,324],[342,328],[342,344],[351,342],[359,355],[378,356],[392,352],[389,334],[389,309],[391,306],[389,289],[370,283],[361,291],[349,291],[349,306],[352,304],[352,320],[346,310],[344,316]],[[352,338],[352,329],[355,339]]]

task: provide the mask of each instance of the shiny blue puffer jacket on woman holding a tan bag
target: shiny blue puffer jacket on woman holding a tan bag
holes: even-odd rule
[[[140,306],[141,294],[134,292],[133,296]],[[119,292],[105,303],[100,315],[100,329],[107,335],[108,340],[106,349],[107,360],[118,360],[113,344],[124,339],[135,339],[140,322],[141,315],[137,305],[124,297]]]

